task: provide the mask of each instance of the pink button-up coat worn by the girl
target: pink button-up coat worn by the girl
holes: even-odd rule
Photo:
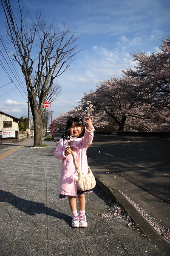
[[[79,165],[79,169],[87,174],[88,173],[88,161],[86,151],[91,145],[94,137],[93,128],[88,131],[85,128],[85,135],[82,138],[77,138],[74,140],[74,146],[72,150],[74,151],[75,159]],[[71,175],[77,172],[75,166],[74,158],[72,154],[65,156],[65,145],[62,139],[59,140],[59,144],[54,151],[54,157],[57,159],[62,159],[62,169],[61,169],[61,181],[59,193],[62,195],[72,195],[76,196],[77,187],[76,181],[71,178]]]

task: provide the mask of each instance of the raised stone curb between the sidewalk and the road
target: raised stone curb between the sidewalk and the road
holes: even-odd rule
[[[170,256],[170,244],[151,226],[151,224],[142,216],[142,214],[131,204],[127,198],[108,180],[105,180],[99,175],[94,174],[96,184],[102,189],[111,199],[117,199],[122,207],[128,212],[130,217],[139,225],[142,232],[156,245],[156,247],[166,256]]]

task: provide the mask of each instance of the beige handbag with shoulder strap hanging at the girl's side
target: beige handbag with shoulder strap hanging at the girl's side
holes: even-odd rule
[[[90,167],[88,166],[88,174],[83,174],[79,170],[79,166],[75,160],[74,152],[72,151],[71,154],[74,158],[76,168],[77,168],[77,172],[75,174],[72,174],[72,178],[74,180],[77,180],[77,190],[85,191],[85,190],[93,189],[96,186],[96,180],[93,173],[91,172]]]

